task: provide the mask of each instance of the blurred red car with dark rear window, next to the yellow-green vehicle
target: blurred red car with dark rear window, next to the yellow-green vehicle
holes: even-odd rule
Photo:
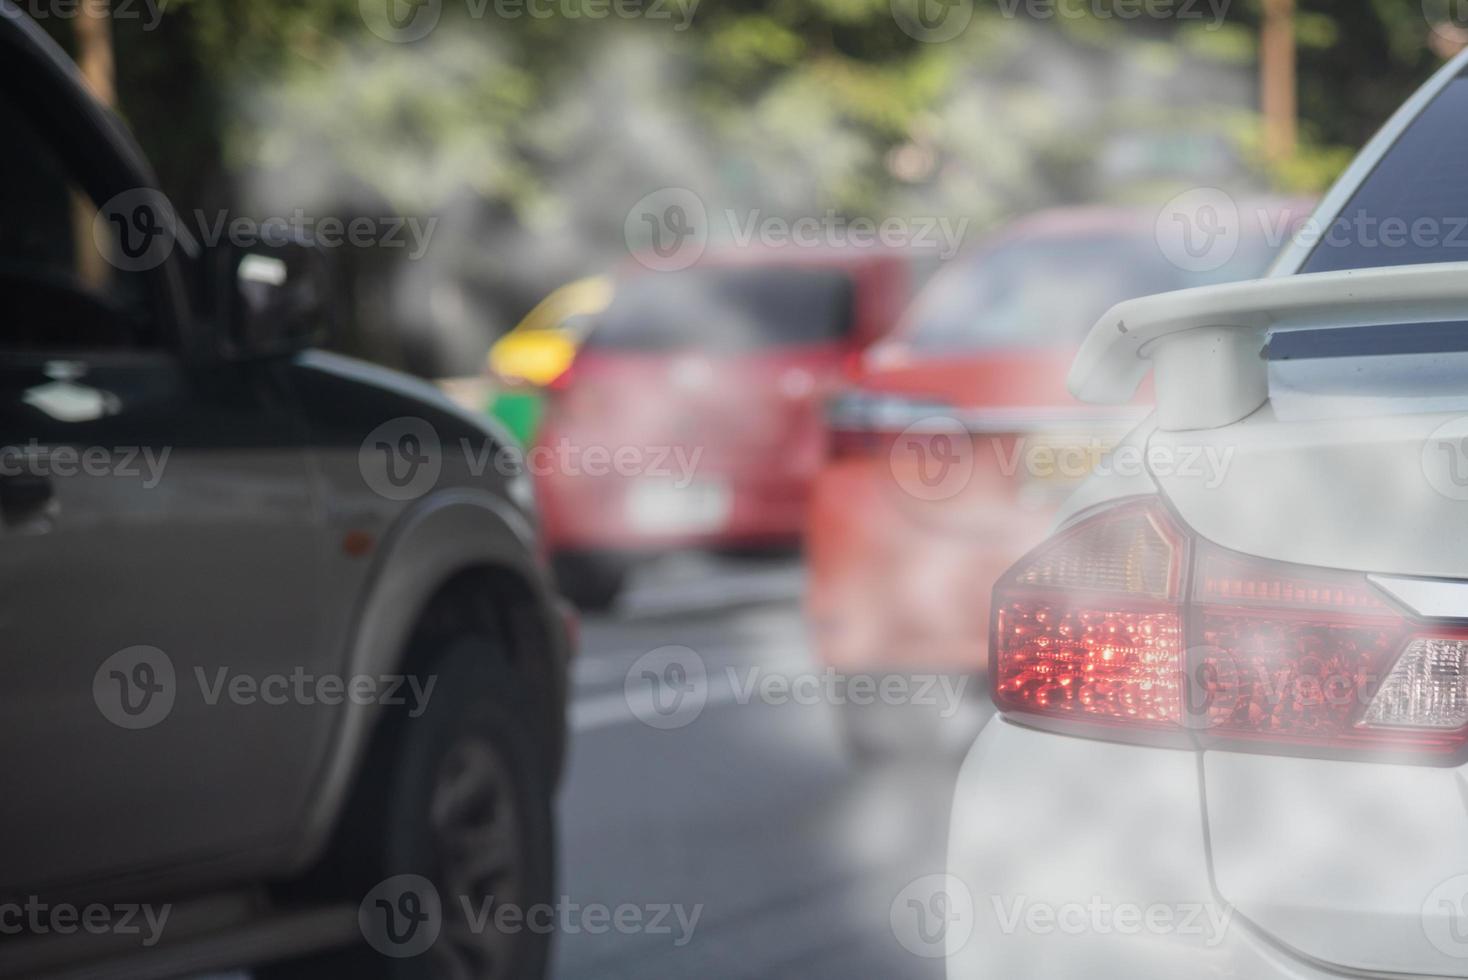
[[[788,549],[822,408],[909,298],[891,252],[738,251],[622,276],[528,462],[561,585],[603,609],[643,556]]]

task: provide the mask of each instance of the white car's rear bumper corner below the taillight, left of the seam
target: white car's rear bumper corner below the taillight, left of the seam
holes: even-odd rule
[[[1286,954],[1218,899],[1205,826],[1193,753],[995,717],[954,795],[948,871],[959,885],[950,886],[970,892],[973,923],[950,927],[948,976],[1340,976]],[[1157,929],[1164,917],[1176,929]]]

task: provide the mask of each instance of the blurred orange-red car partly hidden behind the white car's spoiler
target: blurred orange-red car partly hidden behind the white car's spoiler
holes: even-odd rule
[[[1122,299],[1261,274],[1271,242],[1287,241],[1265,232],[1309,211],[1274,201],[1249,213],[1273,224],[1246,227],[1207,274],[1164,258],[1155,213],[1076,208],[1023,219],[934,277],[831,402],[806,538],[807,613],[826,665],[982,669],[988,584],[1045,535],[1092,467],[1126,462],[1104,453],[1147,411],[1076,402],[1064,383],[1076,346]]]

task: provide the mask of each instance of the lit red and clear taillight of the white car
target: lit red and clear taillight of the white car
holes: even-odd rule
[[[1155,500],[1004,574],[991,678],[1001,712],[1082,734],[1430,761],[1468,745],[1468,632],[1409,622],[1361,574],[1193,540]]]

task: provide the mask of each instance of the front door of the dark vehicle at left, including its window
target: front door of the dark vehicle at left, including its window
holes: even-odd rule
[[[148,176],[34,35],[0,18],[0,893],[248,869],[338,712],[310,458],[282,365],[185,351],[179,255],[112,220]]]

